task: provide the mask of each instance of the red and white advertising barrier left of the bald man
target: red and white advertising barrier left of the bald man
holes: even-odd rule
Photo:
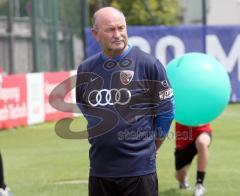
[[[70,109],[61,112],[49,104],[52,90],[70,75],[71,72],[49,72],[4,76],[0,85],[0,129],[72,117]],[[63,99],[72,103],[73,93],[67,94],[70,87],[70,83],[62,85],[52,101],[59,105]]]

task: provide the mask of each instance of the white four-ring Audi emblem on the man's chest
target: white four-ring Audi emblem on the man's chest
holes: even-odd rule
[[[131,100],[131,92],[126,88],[93,90],[88,95],[91,106],[126,105]]]

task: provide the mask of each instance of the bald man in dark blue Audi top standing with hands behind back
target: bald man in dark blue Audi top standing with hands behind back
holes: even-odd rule
[[[128,44],[115,8],[94,14],[92,34],[102,52],[80,64],[76,85],[91,144],[89,195],[157,196],[156,150],[174,117],[165,69]]]

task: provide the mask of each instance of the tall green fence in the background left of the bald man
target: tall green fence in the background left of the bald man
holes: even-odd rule
[[[71,24],[65,5],[66,0],[1,1],[0,69],[12,74],[75,68],[84,56],[82,27],[80,19]]]

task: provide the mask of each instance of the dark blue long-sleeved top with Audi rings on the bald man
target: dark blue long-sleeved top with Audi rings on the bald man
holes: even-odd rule
[[[129,47],[114,59],[88,58],[78,67],[76,101],[88,121],[90,176],[155,172],[155,137],[174,117],[172,89],[155,57]]]

